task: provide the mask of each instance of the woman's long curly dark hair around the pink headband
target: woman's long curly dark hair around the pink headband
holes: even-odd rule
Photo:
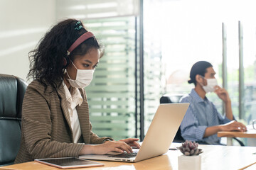
[[[53,26],[46,35],[38,42],[35,50],[28,53],[30,59],[30,70],[27,79],[37,79],[45,86],[60,87],[63,82],[65,67],[64,57],[68,56],[68,48],[87,30],[80,23],[80,29],[75,29],[78,20],[67,19]],[[68,56],[71,60],[78,55],[85,55],[88,50],[96,48],[103,50],[95,37],[88,38],[73,50]]]

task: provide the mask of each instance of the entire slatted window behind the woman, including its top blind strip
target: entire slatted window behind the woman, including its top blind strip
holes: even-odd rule
[[[57,0],[57,18],[78,18],[105,45],[85,88],[92,131],[120,140],[137,133],[138,0]],[[138,106],[139,107],[139,106]]]

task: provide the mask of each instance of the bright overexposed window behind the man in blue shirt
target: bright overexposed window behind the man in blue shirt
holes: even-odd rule
[[[161,93],[189,93],[193,88],[193,84],[187,83],[192,65],[206,60],[213,64],[218,84],[222,86],[223,82],[227,82],[235,118],[241,118],[240,121],[245,124],[252,123],[256,119],[256,22],[252,17],[256,14],[254,3],[255,1],[241,0],[144,1],[144,39],[151,36],[146,35],[146,29],[154,30],[151,33],[161,38],[161,62],[166,81]],[[159,8],[161,11],[157,10]],[[223,23],[227,62],[223,62]],[[239,29],[242,29],[240,45]],[[154,44],[154,40],[145,44]],[[225,79],[223,66],[228,71]],[[242,72],[242,76],[239,76]],[[239,96],[241,94],[242,97]],[[218,96],[207,94],[207,97],[223,113],[222,101]]]

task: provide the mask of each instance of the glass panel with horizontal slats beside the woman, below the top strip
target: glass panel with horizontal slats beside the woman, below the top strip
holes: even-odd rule
[[[86,20],[105,45],[87,91],[92,130],[120,140],[135,137],[135,17]]]

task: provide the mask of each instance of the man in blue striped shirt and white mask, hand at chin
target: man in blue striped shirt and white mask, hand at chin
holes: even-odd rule
[[[190,103],[181,123],[181,136],[185,140],[201,142],[210,145],[220,145],[220,131],[245,132],[246,126],[235,120],[228,92],[218,86],[213,65],[200,61],[193,64],[189,84],[195,84],[190,94],[181,98],[181,103]],[[206,94],[214,92],[225,104],[223,117],[208,100]]]

